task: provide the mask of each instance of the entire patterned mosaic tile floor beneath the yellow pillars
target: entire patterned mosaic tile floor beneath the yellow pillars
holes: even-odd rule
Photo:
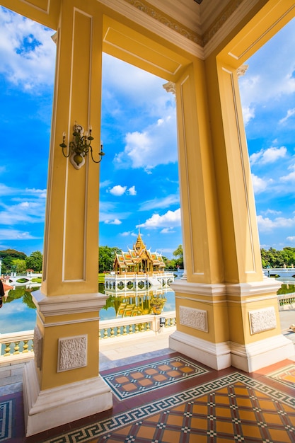
[[[11,436],[2,435],[0,442],[295,443],[295,389],[285,382],[287,372],[294,374],[293,362],[285,360],[253,374],[234,368],[217,372],[178,352],[140,363],[101,372],[114,386],[120,377],[126,376],[128,384],[137,374],[132,396],[120,398],[122,392],[130,392],[122,390],[125,380],[119,388],[113,388],[116,395],[112,410],[28,439],[19,438],[20,431],[16,435],[12,427]],[[180,369],[185,368],[193,375],[184,376]],[[160,380],[156,389],[142,391],[144,385],[138,381],[143,374],[143,379],[152,380],[154,386],[157,377],[163,375],[161,372],[166,375],[171,371],[175,376],[171,383]],[[146,378],[146,374],[151,378]],[[11,398],[0,398],[1,418],[6,415],[9,422],[9,410],[10,420],[17,423],[23,408],[21,402],[14,406],[9,403]],[[6,432],[8,427],[1,429]]]

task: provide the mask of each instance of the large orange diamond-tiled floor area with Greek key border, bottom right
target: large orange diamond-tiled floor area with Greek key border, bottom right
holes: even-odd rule
[[[238,372],[45,443],[290,443],[295,399]]]

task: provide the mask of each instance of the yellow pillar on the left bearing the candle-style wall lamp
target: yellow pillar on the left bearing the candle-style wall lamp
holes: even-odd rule
[[[91,125],[93,157],[100,159],[101,30],[96,2],[62,2],[35,362],[23,379],[27,435],[112,407],[98,372],[98,316],[106,299],[98,293],[99,166],[89,154],[77,169],[59,146],[63,132],[66,144],[72,141],[75,121],[85,131]]]

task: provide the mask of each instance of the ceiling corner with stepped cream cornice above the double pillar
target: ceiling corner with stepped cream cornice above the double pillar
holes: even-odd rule
[[[194,0],[98,1],[188,53],[206,59],[260,0],[206,0],[202,4]]]

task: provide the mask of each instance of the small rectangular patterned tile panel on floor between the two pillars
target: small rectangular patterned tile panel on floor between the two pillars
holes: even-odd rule
[[[172,357],[103,376],[103,379],[122,401],[208,372],[183,357]]]

